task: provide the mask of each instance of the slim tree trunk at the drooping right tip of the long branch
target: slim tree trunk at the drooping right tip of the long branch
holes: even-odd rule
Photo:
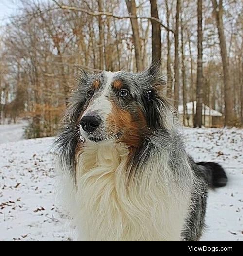
[[[175,18],[175,49],[174,49],[174,107],[178,110],[179,106],[179,14],[181,1],[176,2]]]

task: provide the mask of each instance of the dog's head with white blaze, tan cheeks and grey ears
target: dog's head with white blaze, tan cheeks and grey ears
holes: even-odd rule
[[[141,73],[81,71],[68,112],[84,141],[138,147],[149,133],[165,125],[164,85],[158,65]]]

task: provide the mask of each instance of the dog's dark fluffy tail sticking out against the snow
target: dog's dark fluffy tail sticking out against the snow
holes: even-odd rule
[[[221,165],[214,162],[198,162],[196,164],[203,166],[200,169],[208,187],[217,188],[226,186],[228,178]]]

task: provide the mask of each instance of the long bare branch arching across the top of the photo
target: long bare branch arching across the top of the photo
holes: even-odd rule
[[[60,3],[58,3],[56,0],[52,0],[54,3],[56,3],[61,9],[65,9],[65,10],[72,10],[72,11],[79,11],[79,12],[83,12],[83,13],[87,13],[88,15],[92,15],[92,16],[101,16],[101,15],[105,15],[105,16],[109,16],[109,17],[113,17],[113,18],[117,18],[117,19],[127,19],[127,18],[139,18],[139,19],[149,19],[149,20],[153,20],[156,21],[160,24],[161,27],[163,27],[164,29],[166,29],[167,31],[170,31],[171,33],[175,34],[174,30],[168,28],[167,26],[165,26],[160,19],[155,18],[155,17],[150,17],[150,16],[142,16],[142,17],[138,17],[135,15],[129,15],[129,16],[118,16],[118,15],[114,15],[113,13],[110,12],[91,12],[88,11],[86,9],[83,8],[79,8],[79,7],[73,7],[73,6],[67,6],[67,5],[62,5]]]

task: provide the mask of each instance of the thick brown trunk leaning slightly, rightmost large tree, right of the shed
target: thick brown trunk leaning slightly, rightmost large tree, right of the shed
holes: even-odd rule
[[[225,94],[225,125],[232,126],[234,122],[234,104],[233,104],[233,90],[230,86],[230,76],[229,76],[229,62],[227,55],[226,47],[226,38],[224,33],[224,24],[223,24],[223,0],[219,1],[212,0],[213,12],[216,18],[218,35],[219,35],[219,44],[220,44],[220,53],[223,64],[224,72],[224,94]]]

